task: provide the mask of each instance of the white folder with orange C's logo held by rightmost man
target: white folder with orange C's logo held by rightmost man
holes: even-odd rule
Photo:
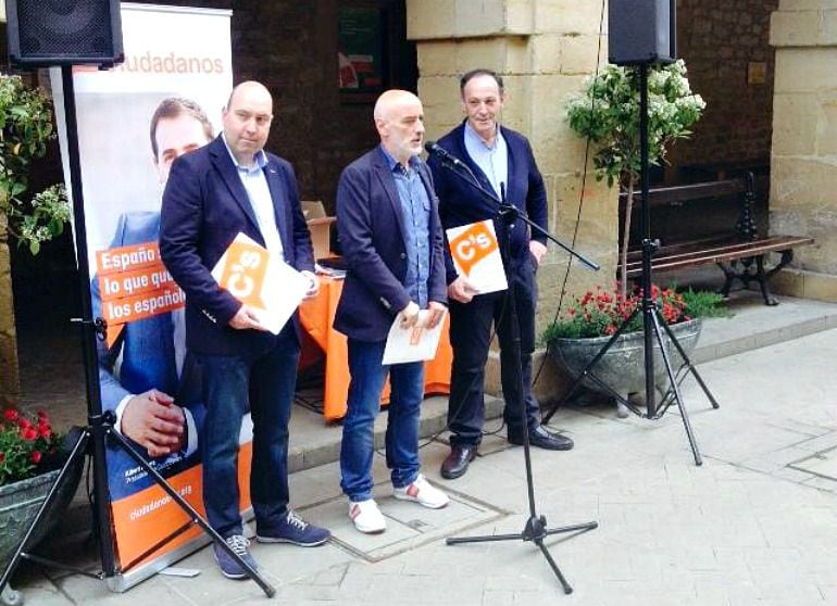
[[[451,227],[445,233],[457,273],[467,277],[479,294],[509,288],[491,219]]]

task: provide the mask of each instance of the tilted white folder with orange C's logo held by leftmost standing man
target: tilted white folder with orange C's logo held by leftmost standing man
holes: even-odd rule
[[[238,233],[212,269],[212,277],[247,303],[274,334],[290,319],[311,288],[311,280],[246,236]]]

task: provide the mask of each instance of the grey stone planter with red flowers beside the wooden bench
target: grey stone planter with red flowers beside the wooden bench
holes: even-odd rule
[[[700,318],[675,324],[672,326],[680,346],[687,355],[691,353],[700,337],[702,323]],[[676,371],[683,363],[683,357],[677,349],[665,340],[665,351]],[[588,339],[555,339],[551,344],[552,357],[573,378],[578,377],[587,364],[596,357],[596,354],[610,340],[610,337],[595,337]],[[615,343],[599,359],[592,369],[592,374],[613,391],[623,396],[627,393],[645,391],[645,338],[642,332],[628,332],[621,334]],[[661,391],[666,391],[667,377],[660,344],[654,339],[654,383]],[[584,380],[584,387],[599,393],[609,394],[603,388],[590,379]]]

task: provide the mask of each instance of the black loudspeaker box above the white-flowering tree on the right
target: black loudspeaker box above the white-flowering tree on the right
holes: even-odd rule
[[[608,60],[614,65],[674,63],[676,0],[609,0]]]

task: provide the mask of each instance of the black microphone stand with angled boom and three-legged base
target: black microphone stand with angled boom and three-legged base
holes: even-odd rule
[[[462,166],[464,166],[470,176],[471,179],[466,178],[461,172],[457,169],[457,163],[451,162],[450,160],[441,157],[441,165],[451,171],[454,175],[457,175],[458,178],[463,179],[465,182],[471,185],[475,190],[477,190],[483,197],[485,197],[488,200],[491,200],[496,202],[499,205],[499,212],[498,216],[502,217],[503,220],[507,224],[505,229],[505,237],[503,238],[503,256],[509,260],[509,254],[511,252],[511,225],[516,219],[524,220],[527,225],[532,226],[533,228],[536,228],[538,232],[544,233],[552,240],[553,242],[558,243],[562,249],[577,257],[579,261],[582,261],[585,265],[590,267],[591,269],[598,269],[599,266],[595,264],[594,262],[585,258],[577,252],[573,251],[569,247],[561,243],[557,238],[554,238],[552,235],[548,233],[545,229],[542,229],[539,225],[536,225],[532,223],[527,217],[524,217],[519,209],[512,204],[505,203],[505,191],[503,189],[502,191],[502,200],[498,199],[497,195],[495,195],[492,192],[485,189],[482,185],[479,185],[479,181],[476,179],[476,176],[471,172],[471,169],[463,163],[459,163]],[[511,315],[511,326],[512,326],[512,342],[513,342],[513,354],[515,359],[515,373],[516,373],[516,379],[517,379],[517,393],[521,394],[520,396],[520,417],[522,421],[522,426],[524,428],[523,431],[523,457],[526,464],[526,487],[527,487],[527,495],[528,495],[528,506],[529,506],[529,517],[526,520],[526,525],[523,528],[522,532],[514,533],[514,534],[489,534],[489,535],[482,535],[482,536],[464,536],[464,538],[448,538],[445,540],[445,543],[447,545],[457,545],[459,543],[484,543],[489,541],[513,541],[513,540],[520,540],[520,541],[532,541],[535,543],[535,545],[538,546],[540,550],[540,553],[544,554],[544,557],[547,559],[547,563],[549,564],[549,567],[552,569],[552,572],[554,572],[555,577],[558,578],[559,582],[561,583],[564,593],[573,593],[573,588],[567,583],[566,579],[564,578],[563,573],[561,572],[561,569],[558,567],[558,564],[555,564],[555,560],[552,558],[552,555],[549,553],[549,550],[547,550],[547,546],[544,544],[544,540],[551,535],[551,534],[560,534],[564,532],[576,532],[576,534],[580,534],[582,532],[587,532],[589,530],[594,530],[599,527],[599,523],[596,521],[590,521],[586,523],[577,523],[572,526],[564,526],[560,528],[547,528],[547,518],[546,516],[538,516],[537,510],[535,508],[535,482],[532,475],[532,454],[530,454],[530,445],[529,445],[529,432],[527,428],[526,422],[526,407],[524,404],[524,387],[523,387],[523,370],[521,368],[521,329],[520,324],[517,321],[517,305],[515,301],[515,289],[514,289],[514,277],[512,276],[511,272],[511,264],[508,264],[509,267],[507,268],[507,281],[509,283],[509,288],[505,293],[505,300],[507,300],[507,310],[509,310],[509,313]]]

